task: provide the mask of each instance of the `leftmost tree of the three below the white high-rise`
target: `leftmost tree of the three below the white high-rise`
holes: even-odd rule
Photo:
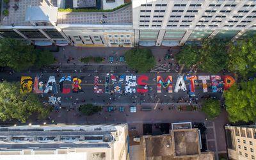
[[[196,66],[200,61],[199,48],[196,45],[184,45],[175,58],[178,63],[184,64],[186,68]]]

